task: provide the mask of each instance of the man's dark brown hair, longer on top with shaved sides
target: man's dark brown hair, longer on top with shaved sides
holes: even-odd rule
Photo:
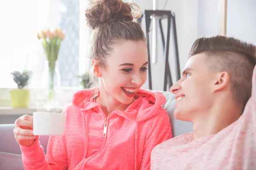
[[[244,108],[251,96],[256,46],[233,37],[202,37],[192,45],[189,58],[203,52],[210,71],[230,74],[233,99]]]

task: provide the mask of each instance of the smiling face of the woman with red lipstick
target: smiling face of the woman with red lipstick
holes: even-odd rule
[[[130,104],[147,79],[148,51],[144,41],[122,41],[116,44],[99,68],[105,90],[122,104]]]

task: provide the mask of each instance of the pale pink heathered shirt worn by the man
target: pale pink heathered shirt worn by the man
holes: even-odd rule
[[[151,170],[256,170],[256,67],[240,118],[215,135],[192,138],[186,133],[154,147]]]

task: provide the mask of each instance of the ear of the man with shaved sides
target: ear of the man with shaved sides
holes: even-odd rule
[[[223,88],[226,88],[228,83],[230,82],[230,76],[227,71],[223,71],[215,75],[213,91],[219,91]]]

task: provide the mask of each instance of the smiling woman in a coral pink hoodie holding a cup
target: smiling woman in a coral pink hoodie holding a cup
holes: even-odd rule
[[[33,136],[33,117],[15,122],[26,170],[149,170],[151,150],[172,137],[163,94],[143,90],[148,54],[133,22],[136,4],[97,0],[85,16],[93,29],[90,57],[99,88],[78,91],[63,113],[64,136],[50,136],[47,154]]]

